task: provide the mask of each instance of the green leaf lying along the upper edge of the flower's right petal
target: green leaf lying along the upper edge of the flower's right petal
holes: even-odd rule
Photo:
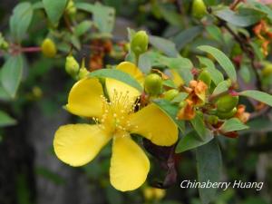
[[[170,116],[170,118],[178,125],[180,131],[185,131],[185,122],[177,120],[177,113],[179,112],[179,108],[176,105],[164,99],[156,99],[153,102],[158,105],[163,112]]]

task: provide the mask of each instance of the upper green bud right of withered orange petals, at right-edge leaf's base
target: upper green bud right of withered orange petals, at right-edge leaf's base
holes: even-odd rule
[[[217,102],[218,112],[230,112],[238,105],[239,97],[230,94],[221,96]]]

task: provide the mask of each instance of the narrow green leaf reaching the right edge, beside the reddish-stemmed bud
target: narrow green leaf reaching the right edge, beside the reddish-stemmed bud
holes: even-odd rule
[[[267,92],[259,92],[256,90],[247,90],[244,92],[239,92],[239,95],[247,96],[249,98],[255,99],[258,102],[264,102],[269,106],[272,106],[272,95]]]

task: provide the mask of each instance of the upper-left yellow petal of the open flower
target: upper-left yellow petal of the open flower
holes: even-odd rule
[[[98,79],[85,78],[73,85],[66,108],[73,114],[83,117],[102,115],[102,85]]]

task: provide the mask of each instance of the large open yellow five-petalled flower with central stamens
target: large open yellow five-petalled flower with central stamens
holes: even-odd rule
[[[121,63],[117,69],[131,74],[143,83],[143,74],[132,63]],[[105,80],[110,101],[103,95],[96,78],[84,78],[73,85],[66,108],[73,114],[93,118],[96,124],[68,124],[54,135],[53,148],[60,160],[72,166],[90,162],[112,139],[110,180],[121,191],[137,189],[146,180],[150,161],[131,139],[137,133],[161,146],[178,140],[178,128],[154,103],[134,112],[141,94],[128,84]]]

